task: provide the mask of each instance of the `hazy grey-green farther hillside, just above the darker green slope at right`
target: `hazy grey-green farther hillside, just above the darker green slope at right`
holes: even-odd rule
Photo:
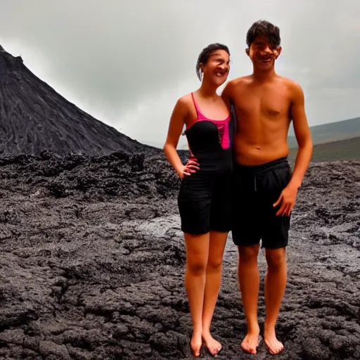
[[[360,117],[316,125],[315,127],[310,127],[310,130],[314,144],[352,139],[360,136]],[[293,126],[290,127],[288,143],[290,148],[297,148]]]

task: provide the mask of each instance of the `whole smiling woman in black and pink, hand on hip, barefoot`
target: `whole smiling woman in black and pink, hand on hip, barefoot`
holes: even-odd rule
[[[210,324],[231,229],[232,158],[231,116],[216,91],[229,75],[229,56],[229,49],[222,44],[211,44],[200,53],[196,72],[202,84],[176,102],[164,146],[167,159],[181,178],[178,205],[186,243],[185,286],[195,357],[200,356],[203,341],[212,355],[221,349],[210,334]],[[186,165],[176,152],[184,124],[191,151]]]

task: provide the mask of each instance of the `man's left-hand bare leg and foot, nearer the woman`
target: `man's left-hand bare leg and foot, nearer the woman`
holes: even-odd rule
[[[260,332],[259,323],[257,322],[257,300],[259,297],[257,255],[259,254],[259,244],[246,247],[238,246],[238,251],[238,278],[246,321],[248,323],[248,333],[240,346],[245,352],[256,354]]]

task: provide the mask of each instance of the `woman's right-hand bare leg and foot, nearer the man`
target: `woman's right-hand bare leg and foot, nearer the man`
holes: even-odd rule
[[[210,326],[220,290],[222,258],[227,236],[228,233],[219,233],[217,231],[210,232],[203,308],[203,340],[212,355],[216,355],[221,350],[221,344],[212,338]]]

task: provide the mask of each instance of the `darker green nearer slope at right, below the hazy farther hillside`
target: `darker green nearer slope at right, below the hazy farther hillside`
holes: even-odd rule
[[[295,160],[297,148],[290,150],[289,160]],[[319,143],[314,146],[311,161],[360,159],[360,136],[353,139]]]

